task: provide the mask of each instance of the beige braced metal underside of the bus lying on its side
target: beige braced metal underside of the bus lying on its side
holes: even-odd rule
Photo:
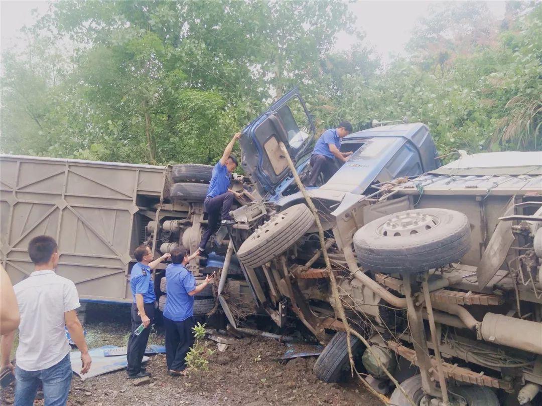
[[[47,234],[59,243],[57,273],[81,299],[123,302],[138,195],[162,195],[164,167],[29,156],[0,156],[2,263],[13,283],[34,269],[28,243]]]

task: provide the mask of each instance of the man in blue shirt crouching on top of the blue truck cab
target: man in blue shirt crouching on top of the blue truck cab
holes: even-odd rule
[[[328,129],[320,136],[311,156],[311,175],[308,186],[316,186],[318,176],[324,175],[324,182],[330,180],[337,172],[333,158],[346,162],[352,152],[340,152],[340,140],[352,132],[352,125],[348,121],[341,122],[337,128]]]

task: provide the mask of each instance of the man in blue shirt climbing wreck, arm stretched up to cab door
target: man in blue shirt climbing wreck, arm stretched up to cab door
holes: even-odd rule
[[[231,155],[235,141],[241,138],[241,133],[236,133],[229,144],[224,149],[222,158],[212,169],[211,182],[207,189],[207,197],[203,202],[203,208],[208,214],[208,227],[202,235],[199,243],[199,251],[205,251],[209,238],[220,227],[219,221],[222,215],[222,225],[231,225],[235,221],[228,214],[234,197],[240,198],[241,194],[229,189],[231,182],[231,173],[237,168],[237,158]]]

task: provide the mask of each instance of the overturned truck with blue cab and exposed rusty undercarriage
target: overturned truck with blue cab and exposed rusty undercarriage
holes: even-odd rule
[[[230,235],[273,320],[283,325],[293,312],[328,343],[314,372],[333,381],[348,360],[346,320],[331,294],[324,249],[348,324],[370,343],[362,349],[350,340],[368,381],[383,394],[392,389],[390,376],[402,382],[392,404],[539,400],[542,154],[460,151],[439,167],[420,123],[351,134],[341,150],[353,150],[352,159],[308,189],[325,228],[321,247],[285,162],[288,154],[303,178],[307,158],[291,144],[309,139],[311,126],[295,125],[302,115],[288,103],[299,96],[290,97],[243,133],[243,165],[274,202],[270,218],[250,225],[248,237]],[[242,206],[237,217],[249,218],[258,204]]]

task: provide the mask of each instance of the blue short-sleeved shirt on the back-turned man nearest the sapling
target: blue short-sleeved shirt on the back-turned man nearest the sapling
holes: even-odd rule
[[[196,289],[196,279],[181,264],[169,264],[166,267],[167,300],[164,317],[174,322],[182,322],[193,316],[194,297],[188,292]]]

